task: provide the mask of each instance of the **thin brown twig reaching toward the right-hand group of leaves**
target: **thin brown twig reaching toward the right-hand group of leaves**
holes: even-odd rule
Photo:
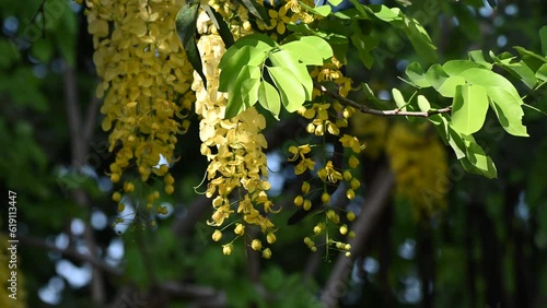
[[[419,117],[419,118],[429,118],[430,116],[433,115],[439,115],[439,114],[447,114],[452,111],[452,107],[445,107],[437,110],[430,110],[430,111],[404,111],[399,108],[393,109],[393,110],[379,110],[374,108],[370,108],[368,106],[361,105],[357,103],[356,100],[351,100],[349,98],[346,98],[338,93],[331,92],[328,88],[326,88],[324,85],[315,83],[315,87],[317,87],[323,94],[327,95],[330,98],[338,99],[340,104],[346,105],[346,106],[351,106],[359,111],[363,114],[370,114],[370,115],[375,115],[375,116],[382,116],[382,117],[393,117],[393,116],[405,116],[405,117]]]

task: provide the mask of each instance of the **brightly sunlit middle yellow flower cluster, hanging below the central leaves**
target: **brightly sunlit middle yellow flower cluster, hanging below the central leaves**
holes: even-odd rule
[[[267,180],[266,154],[263,152],[267,143],[260,132],[266,127],[266,119],[255,108],[248,108],[232,119],[224,119],[228,94],[218,92],[218,64],[225,48],[221,37],[214,31],[209,31],[210,21],[203,16],[206,13],[199,14],[198,32],[201,37],[198,49],[207,88],[197,72],[194,73],[191,88],[196,91],[196,114],[201,118],[201,154],[209,161],[206,196],[213,198],[214,213],[208,224],[220,228],[212,238],[221,240],[222,230],[230,225],[224,226],[226,220],[237,212],[243,220],[235,223],[235,238],[246,234],[246,226],[256,225],[266,234],[268,244],[272,244],[276,240],[275,225],[267,216],[272,212],[272,202],[266,194],[270,183]],[[237,203],[236,209],[232,206],[232,198]],[[233,240],[223,245],[225,254],[232,252]],[[264,248],[257,238],[252,239],[251,247],[261,251],[264,258],[271,256],[271,250]]]

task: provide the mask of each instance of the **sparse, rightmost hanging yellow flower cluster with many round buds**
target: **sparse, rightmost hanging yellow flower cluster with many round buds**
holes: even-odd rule
[[[351,88],[351,79],[344,76],[340,71],[341,62],[336,58],[333,58],[330,62],[325,63],[322,67],[317,67],[311,72],[311,76],[315,79],[318,83],[331,83],[338,88],[338,93],[341,96],[346,96]],[[314,98],[321,97],[321,99],[326,100],[326,97],[321,96],[322,94],[314,90]],[[310,134],[319,137],[323,139],[322,144],[303,144],[300,146],[289,147],[290,162],[296,162],[294,166],[294,173],[296,175],[310,171],[314,177],[321,180],[319,188],[315,190],[322,190],[321,202],[326,205],[325,211],[323,211],[324,218],[313,228],[313,235],[311,237],[304,238],[304,244],[312,250],[316,251],[316,240],[313,237],[324,236],[327,247],[345,251],[346,256],[350,256],[349,250],[351,246],[344,240],[338,240],[338,237],[353,236],[352,232],[348,230],[348,223],[356,218],[354,213],[346,212],[344,209],[336,209],[329,205],[331,200],[331,193],[328,187],[338,187],[342,181],[346,198],[352,200],[356,198],[356,190],[359,189],[361,182],[353,177],[354,169],[359,165],[358,155],[362,150],[361,142],[349,134],[342,133],[340,130],[348,127],[348,120],[356,114],[354,108],[345,107],[340,105],[339,102],[333,100],[328,103],[313,103],[311,106],[302,107],[299,109],[299,115],[310,120],[306,126],[306,131]],[[337,137],[337,142],[341,144],[344,153],[326,153],[326,135]],[[341,134],[341,137],[340,137]],[[323,151],[321,155],[315,155],[312,152],[312,147],[317,149],[317,151]],[[324,158],[323,162],[316,162],[317,157],[333,157]],[[335,159],[335,156],[344,156],[344,159]],[[338,161],[338,164],[334,161]],[[340,162],[345,161],[345,164]],[[321,167],[316,167],[319,165]],[[342,165],[347,166],[346,168]],[[294,198],[294,205],[302,206],[305,211],[312,209],[313,201],[311,198],[314,196],[314,191],[311,191],[311,183],[304,181],[301,188],[302,194]],[[340,213],[346,213],[346,222],[340,217]],[[337,233],[329,233],[329,227],[337,227],[339,235]],[[323,240],[322,240],[323,241]]]

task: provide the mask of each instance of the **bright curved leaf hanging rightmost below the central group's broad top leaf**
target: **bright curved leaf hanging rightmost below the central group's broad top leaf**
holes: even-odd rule
[[[305,100],[305,92],[298,78],[289,69],[281,67],[270,67],[268,73],[280,93],[281,103],[287,111],[296,111]]]

